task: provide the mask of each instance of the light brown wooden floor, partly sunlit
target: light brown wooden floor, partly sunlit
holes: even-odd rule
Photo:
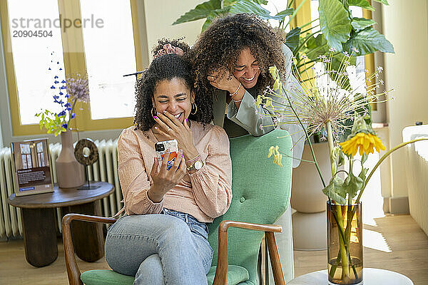
[[[414,285],[428,285],[428,237],[409,215],[387,216],[365,225],[364,266],[397,271]],[[58,240],[58,259],[34,268],[24,257],[21,239],[0,242],[0,284],[68,284],[63,244]],[[325,269],[327,255],[322,252],[295,251],[295,276]],[[78,261],[83,271],[107,269],[105,259],[95,263]]]

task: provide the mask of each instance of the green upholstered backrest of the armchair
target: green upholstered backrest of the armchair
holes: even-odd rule
[[[280,147],[283,167],[274,165],[272,157],[267,158],[272,145]],[[208,225],[208,241],[214,249],[213,266],[217,265],[218,225],[221,221],[274,224],[287,209],[291,192],[291,147],[290,135],[285,130],[274,130],[261,137],[245,135],[230,139],[233,199],[228,212]],[[248,284],[256,283],[262,238],[263,232],[228,229],[229,264],[248,269]]]

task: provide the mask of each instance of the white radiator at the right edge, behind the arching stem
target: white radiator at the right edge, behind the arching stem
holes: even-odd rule
[[[428,138],[428,125],[404,128],[403,141]],[[407,189],[410,215],[428,235],[428,140],[406,147]]]

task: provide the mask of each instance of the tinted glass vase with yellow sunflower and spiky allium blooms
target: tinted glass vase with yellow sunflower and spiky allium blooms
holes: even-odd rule
[[[378,67],[370,76],[359,76],[356,67],[351,64],[352,57],[358,53],[356,48],[351,54],[342,53],[339,68],[332,69],[332,58],[337,52],[330,48],[330,57],[320,56],[312,68],[306,69],[310,80],[300,77],[299,83],[290,83],[285,90],[280,74],[275,66],[270,73],[275,80],[273,88],[267,88],[259,95],[256,104],[275,113],[275,124],[296,123],[302,127],[317,172],[320,175],[327,195],[327,269],[329,284],[362,284],[362,193],[377,167],[392,152],[418,140],[403,142],[387,151],[367,175],[365,162],[375,150],[385,150],[382,141],[372,129],[370,103],[379,101],[380,95],[389,91],[375,93],[383,85],[379,80],[371,83],[382,72]],[[302,56],[305,58],[305,56]],[[305,62],[306,64],[306,62]],[[313,71],[310,77],[307,70]],[[297,68],[295,68],[297,71]],[[367,72],[367,71],[366,71]],[[299,84],[300,86],[295,86]],[[297,88],[301,87],[301,88]],[[310,135],[323,134],[329,146],[331,177],[328,184],[322,177],[317,158],[312,149]],[[359,156],[357,156],[357,154]],[[276,146],[270,147],[268,157],[273,156],[274,163],[281,165],[282,153]],[[340,170],[347,160],[348,169]],[[355,164],[360,163],[360,173],[355,173]]]

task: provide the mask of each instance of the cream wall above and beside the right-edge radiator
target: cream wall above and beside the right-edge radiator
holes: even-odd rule
[[[428,0],[389,1],[383,6],[383,32],[395,54],[385,53],[386,88],[394,88],[387,103],[389,145],[402,142],[402,130],[416,121],[428,123]],[[406,197],[404,150],[392,154],[392,197]]]

